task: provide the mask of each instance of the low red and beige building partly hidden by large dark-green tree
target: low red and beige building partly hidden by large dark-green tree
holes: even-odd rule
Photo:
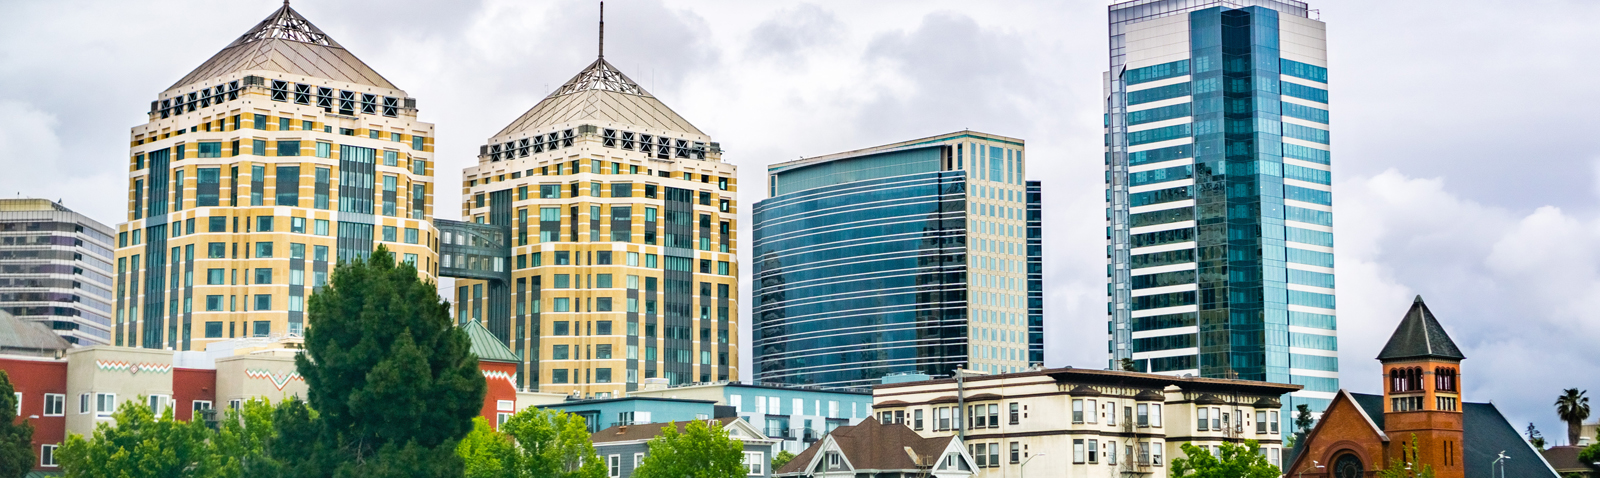
[[[491,424],[498,427],[520,409],[566,398],[517,392],[515,355],[482,325],[462,328],[488,382],[482,414]],[[0,371],[16,388],[18,420],[34,425],[38,472],[58,472],[54,452],[67,433],[88,436],[98,424],[115,424],[112,414],[125,401],[146,403],[157,414],[170,408],[174,419],[190,420],[216,419],[211,409],[238,408],[253,398],[306,398],[306,379],[294,364],[302,350],[302,339],[294,336],[211,342],[205,352],[72,347],[42,323],[0,312]]]

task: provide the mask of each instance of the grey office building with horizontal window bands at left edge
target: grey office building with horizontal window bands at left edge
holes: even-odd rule
[[[51,200],[0,200],[0,310],[67,342],[110,342],[112,229]]]

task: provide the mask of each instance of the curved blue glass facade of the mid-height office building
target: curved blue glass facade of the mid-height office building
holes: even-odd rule
[[[963,366],[966,189],[933,171],[757,203],[757,379],[854,388]]]

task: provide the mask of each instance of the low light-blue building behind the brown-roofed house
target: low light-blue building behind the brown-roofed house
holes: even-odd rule
[[[632,396],[710,400],[778,440],[776,451],[798,454],[838,427],[859,424],[872,414],[872,393],[750,384],[702,384],[670,388],[645,387]]]

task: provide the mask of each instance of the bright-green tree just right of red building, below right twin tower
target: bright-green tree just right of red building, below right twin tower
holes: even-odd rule
[[[515,476],[603,478],[605,462],[589,441],[584,417],[528,408],[501,425],[517,441]],[[635,476],[637,472],[635,472]]]

